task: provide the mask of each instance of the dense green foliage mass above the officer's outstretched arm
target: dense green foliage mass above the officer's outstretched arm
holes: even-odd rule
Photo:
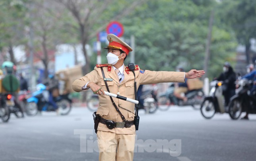
[[[136,37],[135,63],[150,70],[203,69],[209,16],[216,6],[211,0],[148,1],[123,21],[125,35]],[[210,75],[235,58],[236,45],[234,35],[214,23]]]

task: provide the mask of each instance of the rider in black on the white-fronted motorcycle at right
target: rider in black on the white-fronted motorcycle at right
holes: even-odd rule
[[[225,62],[223,65],[223,73],[219,75],[215,80],[223,81],[223,95],[225,98],[225,106],[229,104],[229,100],[235,95],[235,81],[237,79],[236,73],[231,67],[229,62]]]

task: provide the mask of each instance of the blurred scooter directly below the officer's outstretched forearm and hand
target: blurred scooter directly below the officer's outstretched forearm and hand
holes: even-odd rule
[[[185,93],[185,96],[187,97],[186,102],[174,96],[174,89],[174,84],[171,84],[165,93],[158,96],[158,102],[161,105],[159,109],[161,111],[168,110],[171,105],[191,105],[194,109],[200,108],[200,105],[204,99],[204,92],[202,89],[189,90],[187,93]]]

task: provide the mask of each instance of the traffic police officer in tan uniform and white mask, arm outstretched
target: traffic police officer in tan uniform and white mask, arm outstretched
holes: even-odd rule
[[[134,76],[133,72],[123,63],[132,48],[113,34],[108,34],[107,38],[109,44],[104,49],[108,50],[108,64],[96,65],[93,71],[75,80],[72,88],[76,92],[90,88],[94,94],[99,95],[99,107],[96,114],[100,115],[103,120],[100,121],[97,128],[99,161],[132,161],[136,132],[133,123],[135,105],[131,102],[112,98],[119,112],[121,112],[126,121],[129,121],[129,126],[126,123],[122,126],[123,118],[115,109],[110,97],[104,94],[104,91],[107,91],[107,86],[111,93],[135,99],[135,81],[138,88],[140,84],[184,82],[185,78],[202,77],[205,72],[196,69],[192,69],[187,73],[149,71],[142,70],[138,65],[135,65]],[[102,69],[105,77],[102,76]],[[105,84],[104,79],[107,84]],[[112,129],[108,128],[106,120],[114,122],[115,125],[118,123],[121,126],[116,126]]]

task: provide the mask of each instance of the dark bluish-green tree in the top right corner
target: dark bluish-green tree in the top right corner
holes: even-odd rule
[[[246,63],[252,63],[250,55],[250,39],[256,36],[256,1],[255,0],[226,0],[222,2],[224,23],[231,25],[237,40],[245,45]]]

